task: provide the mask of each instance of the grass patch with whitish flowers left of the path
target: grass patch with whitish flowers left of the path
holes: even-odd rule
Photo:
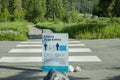
[[[0,40],[27,40],[29,33],[28,22],[0,23]]]

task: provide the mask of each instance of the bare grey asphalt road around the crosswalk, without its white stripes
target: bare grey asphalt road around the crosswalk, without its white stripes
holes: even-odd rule
[[[41,39],[29,39],[38,42]],[[120,39],[80,40],[91,53],[71,53],[72,55],[95,55],[101,62],[70,62],[73,66],[80,66],[81,72],[68,72],[70,80],[120,80]],[[22,57],[28,54],[10,54],[11,49],[21,41],[0,41],[0,59],[3,57]],[[41,56],[40,54],[29,54]],[[7,63],[0,62],[0,80],[43,80],[47,74],[41,71],[41,63]]]

